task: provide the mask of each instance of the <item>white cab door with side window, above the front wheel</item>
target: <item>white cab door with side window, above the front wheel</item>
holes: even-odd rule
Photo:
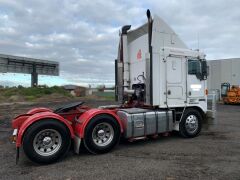
[[[205,81],[200,80],[201,63],[196,59],[188,59],[187,97],[194,100],[204,97]],[[191,101],[191,100],[190,100]]]

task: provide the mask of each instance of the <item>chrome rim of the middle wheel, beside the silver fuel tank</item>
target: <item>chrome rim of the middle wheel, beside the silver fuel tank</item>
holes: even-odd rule
[[[108,123],[97,124],[92,132],[93,142],[97,146],[107,146],[109,145],[114,137],[113,127]]]

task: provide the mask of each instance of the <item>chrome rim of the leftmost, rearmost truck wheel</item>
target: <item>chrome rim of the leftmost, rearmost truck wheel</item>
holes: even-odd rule
[[[33,148],[41,156],[55,154],[62,145],[60,133],[54,129],[44,129],[36,134],[33,140]]]

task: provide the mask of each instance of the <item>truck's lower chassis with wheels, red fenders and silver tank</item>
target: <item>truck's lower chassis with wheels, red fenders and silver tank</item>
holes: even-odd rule
[[[124,105],[91,109],[82,102],[54,111],[35,108],[13,120],[13,141],[17,150],[23,146],[32,161],[52,163],[68,152],[71,143],[76,154],[81,144],[99,154],[112,150],[121,137],[133,140],[173,130],[183,137],[195,137],[201,130],[203,114],[189,110],[183,115],[174,110]]]

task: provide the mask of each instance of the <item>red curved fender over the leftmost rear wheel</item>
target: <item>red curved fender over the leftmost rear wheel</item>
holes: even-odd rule
[[[63,122],[68,127],[68,129],[71,133],[71,137],[74,138],[73,128],[72,128],[71,123],[69,121],[67,121],[63,117],[61,117],[58,114],[55,114],[53,112],[40,112],[40,113],[37,113],[37,114],[34,114],[34,115],[30,116],[28,119],[26,119],[23,122],[22,126],[18,130],[18,135],[17,135],[17,139],[16,139],[16,146],[17,147],[21,146],[23,135],[30,125],[32,125],[36,121],[40,121],[40,120],[43,121],[43,120],[49,119],[49,118],[50,119],[56,119],[58,121]]]

